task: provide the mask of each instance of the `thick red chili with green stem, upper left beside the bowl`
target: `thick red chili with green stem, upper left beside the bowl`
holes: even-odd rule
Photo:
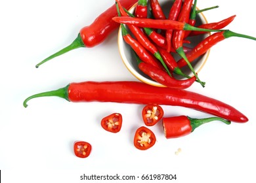
[[[131,8],[132,5],[137,3],[137,0],[120,1],[125,8]],[[110,35],[110,33],[119,27],[119,24],[116,24],[116,22],[112,20],[114,16],[117,16],[116,5],[112,5],[112,7],[102,12],[102,14],[100,14],[91,25],[83,27],[79,31],[77,38],[69,46],[66,46],[66,48],[63,48],[62,50],[44,59],[35,67],[39,67],[39,65],[55,58],[56,56],[65,54],[70,50],[81,47],[91,48],[97,44],[100,44],[106,39],[106,37],[108,37],[108,35]]]

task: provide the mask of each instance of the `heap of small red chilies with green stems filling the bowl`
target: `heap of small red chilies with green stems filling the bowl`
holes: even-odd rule
[[[116,3],[118,4],[117,10],[121,13],[119,17],[114,17],[112,20],[121,24],[123,39],[135,50],[135,58],[139,63],[138,68],[152,80],[169,88],[188,88],[191,86],[192,80],[199,82],[204,87],[205,82],[198,78],[198,74],[194,71],[191,62],[199,59],[217,42],[223,41],[228,37],[244,37],[256,40],[255,37],[234,33],[230,30],[221,30],[230,24],[236,15],[219,22],[201,24],[195,27],[196,14],[198,12],[217,8],[211,7],[198,11],[196,10],[197,0],[194,0],[194,4],[193,0],[171,1],[170,3],[173,4],[169,14],[167,14],[168,16],[163,13],[163,8],[158,0],[148,1],[148,8],[146,8],[146,1],[138,1],[137,7],[135,7],[135,15],[125,10],[119,0],[116,0]],[[147,17],[145,12],[150,12]],[[126,24],[127,27],[123,24]],[[127,29],[130,29],[133,34],[129,35],[129,37],[135,37],[133,38],[133,43],[131,39],[127,40]],[[133,31],[133,29],[137,29],[137,31]],[[184,43],[190,43],[187,38],[202,35],[208,31],[215,31],[216,33],[209,34],[194,47],[184,46]],[[138,37],[144,37],[144,39]],[[135,45],[137,46],[136,48]],[[175,54],[178,54],[180,58],[175,59]],[[150,65],[152,61],[154,61],[154,65]],[[162,67],[158,65],[158,68],[156,68],[157,61]],[[184,66],[187,66],[192,71],[196,79],[191,79],[190,76],[184,74],[182,70]],[[174,73],[188,79],[181,81],[177,78],[177,75],[173,75]],[[178,84],[181,82],[186,83],[186,86]]]

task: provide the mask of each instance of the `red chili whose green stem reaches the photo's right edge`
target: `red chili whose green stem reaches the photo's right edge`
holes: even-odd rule
[[[209,35],[205,39],[203,39],[203,41],[198,43],[198,45],[196,45],[193,48],[193,50],[191,50],[191,52],[188,52],[186,54],[186,58],[188,59],[188,61],[192,62],[194,61],[194,59],[205,54],[205,52],[207,52],[207,50],[209,50],[212,46],[214,46],[218,42],[223,41],[224,39],[228,39],[229,37],[243,37],[243,38],[252,39],[256,41],[255,37],[242,35],[240,33],[234,33],[230,30],[226,30],[226,31],[214,33],[212,35]],[[179,61],[177,61],[177,64],[181,68],[181,67],[184,67],[187,63],[184,59],[179,59]]]

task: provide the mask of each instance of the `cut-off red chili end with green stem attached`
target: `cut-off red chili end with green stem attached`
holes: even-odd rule
[[[194,131],[197,127],[202,124],[221,121],[225,124],[230,124],[229,120],[223,118],[211,117],[203,119],[190,118],[188,116],[174,116],[169,118],[163,118],[163,130],[167,139],[183,137]]]

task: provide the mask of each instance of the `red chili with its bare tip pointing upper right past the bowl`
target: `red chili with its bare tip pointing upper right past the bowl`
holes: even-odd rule
[[[203,28],[203,29],[223,29],[228,24],[230,24],[234,20],[235,17],[236,17],[236,15],[233,15],[224,20],[221,20],[220,22],[202,24],[202,25],[199,25],[198,27]],[[205,33],[204,31],[191,31],[189,36],[195,36],[195,35],[200,35],[200,34],[204,34],[204,33]]]

